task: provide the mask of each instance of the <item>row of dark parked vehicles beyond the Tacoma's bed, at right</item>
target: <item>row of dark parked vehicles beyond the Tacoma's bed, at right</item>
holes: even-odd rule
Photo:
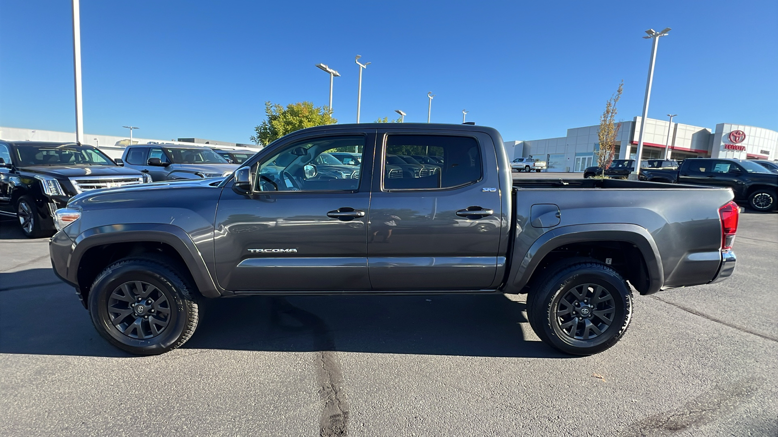
[[[634,159],[615,159],[608,169],[588,167],[584,178],[605,175],[626,179],[635,169]],[[734,200],[755,211],[778,206],[778,163],[732,158],[647,159],[640,162],[640,180],[670,184],[728,187]]]

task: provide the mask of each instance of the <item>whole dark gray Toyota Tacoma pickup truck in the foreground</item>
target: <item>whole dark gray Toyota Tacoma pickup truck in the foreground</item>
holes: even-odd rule
[[[321,177],[321,153],[359,156]],[[435,156],[395,174],[387,156]],[[543,341],[611,347],[650,294],[734,271],[732,191],[631,180],[514,183],[499,133],[447,124],[296,131],[226,179],[89,191],[56,212],[51,262],[107,341],[184,344],[204,298],[527,293]],[[631,285],[631,287],[630,287]]]

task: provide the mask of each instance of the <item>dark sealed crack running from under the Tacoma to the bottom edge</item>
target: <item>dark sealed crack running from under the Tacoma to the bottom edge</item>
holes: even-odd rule
[[[345,437],[348,435],[349,402],[342,388],[343,378],[338,355],[335,352],[335,337],[321,317],[304,309],[293,306],[286,298],[273,299],[273,316],[289,316],[302,324],[302,327],[285,327],[276,320],[276,326],[286,330],[309,330],[314,337],[316,355],[316,376],[319,395],[324,407],[319,418],[320,437]]]

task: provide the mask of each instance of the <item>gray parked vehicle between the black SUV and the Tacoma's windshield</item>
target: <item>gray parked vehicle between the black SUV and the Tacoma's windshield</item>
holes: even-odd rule
[[[155,182],[223,177],[238,168],[212,149],[195,145],[131,145],[124,149],[122,159],[124,166],[149,174]]]

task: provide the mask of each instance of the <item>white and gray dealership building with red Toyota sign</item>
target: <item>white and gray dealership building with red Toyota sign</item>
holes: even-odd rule
[[[642,117],[622,121],[616,136],[615,159],[635,159]],[[583,172],[597,165],[599,125],[567,130],[559,138],[506,142],[508,156],[535,158],[550,172]],[[716,130],[646,119],[642,159],[738,158],[778,159],[778,132],[743,124],[720,123]]]

